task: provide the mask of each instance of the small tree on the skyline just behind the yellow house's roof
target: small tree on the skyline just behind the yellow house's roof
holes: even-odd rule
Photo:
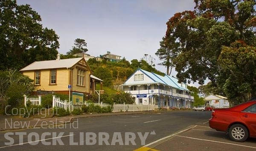
[[[88,49],[87,48],[84,48],[84,47],[87,47],[87,43],[85,42],[84,39],[79,39],[77,38],[75,40],[75,43],[74,43],[75,46],[73,46],[73,48],[67,52],[67,55],[75,55],[76,53],[82,53],[82,52],[87,52]]]

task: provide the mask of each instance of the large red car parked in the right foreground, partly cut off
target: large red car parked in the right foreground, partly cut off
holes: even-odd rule
[[[244,142],[256,138],[256,100],[225,109],[213,109],[209,126],[228,133],[230,139]]]

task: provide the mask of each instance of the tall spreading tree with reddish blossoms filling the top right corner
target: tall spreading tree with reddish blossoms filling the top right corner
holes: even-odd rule
[[[216,86],[222,46],[236,40],[255,46],[255,0],[195,0],[194,11],[176,13],[167,24],[166,37],[178,43],[174,60],[179,82]]]

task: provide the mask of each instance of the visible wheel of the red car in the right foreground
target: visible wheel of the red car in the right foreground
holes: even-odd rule
[[[241,124],[232,125],[228,134],[230,139],[236,142],[244,142],[249,136],[247,128]]]

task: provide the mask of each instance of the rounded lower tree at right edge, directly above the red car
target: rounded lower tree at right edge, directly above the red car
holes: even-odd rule
[[[234,104],[256,97],[256,47],[237,41],[223,47],[218,62],[221,72],[218,86]],[[225,80],[224,80],[225,79]]]

